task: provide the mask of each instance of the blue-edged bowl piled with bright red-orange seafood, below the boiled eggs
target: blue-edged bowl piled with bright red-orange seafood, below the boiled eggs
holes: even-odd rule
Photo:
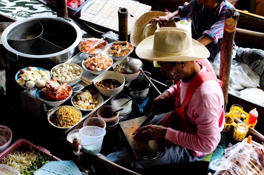
[[[51,79],[45,83],[44,88],[36,90],[38,100],[49,106],[59,106],[71,97],[72,87],[67,83],[59,83],[56,79]]]

